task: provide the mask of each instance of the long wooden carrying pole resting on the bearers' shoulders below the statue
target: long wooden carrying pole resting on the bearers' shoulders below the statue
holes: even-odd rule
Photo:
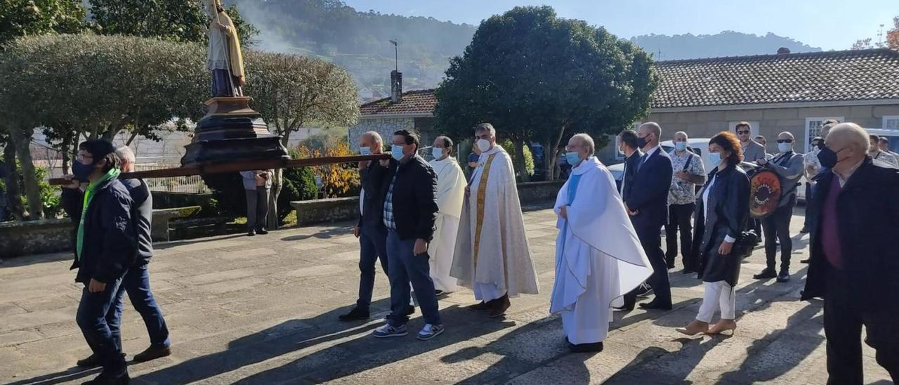
[[[130,178],[165,178],[168,176],[190,176],[206,174],[236,173],[238,171],[268,170],[270,168],[295,168],[306,166],[334,165],[337,163],[353,163],[364,160],[382,160],[390,157],[390,154],[361,155],[351,157],[309,157],[304,159],[254,159],[240,162],[216,163],[201,166],[185,166],[177,168],[162,168],[159,170],[135,171],[121,173],[120,179]],[[49,184],[68,184],[64,178],[51,178]]]

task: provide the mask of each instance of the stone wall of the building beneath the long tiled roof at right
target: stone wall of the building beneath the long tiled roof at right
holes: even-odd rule
[[[674,132],[685,131],[693,138],[710,138],[729,129],[732,121],[758,121],[758,134],[768,139],[768,151],[776,152],[774,139],[782,131],[797,138],[797,150],[806,151],[806,118],[841,117],[868,129],[880,129],[885,115],[899,115],[899,103],[840,107],[795,107],[758,110],[725,110],[703,112],[651,112],[643,121],[662,126],[663,140],[673,139]]]

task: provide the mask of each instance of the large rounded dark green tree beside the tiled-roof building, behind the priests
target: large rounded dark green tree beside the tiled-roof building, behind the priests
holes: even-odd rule
[[[537,141],[549,180],[563,139],[623,129],[645,115],[656,85],[652,59],[633,43],[548,6],[515,7],[482,22],[464,54],[450,60],[436,90],[435,126],[467,138],[489,121],[519,153]],[[525,169],[524,157],[517,160]]]

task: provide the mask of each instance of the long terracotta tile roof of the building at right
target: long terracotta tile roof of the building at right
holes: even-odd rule
[[[698,58],[655,63],[652,107],[899,99],[890,49]]]

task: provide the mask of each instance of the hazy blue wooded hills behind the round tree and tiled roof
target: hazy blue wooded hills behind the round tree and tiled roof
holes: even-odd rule
[[[475,25],[441,22],[433,17],[361,12],[339,0],[226,3],[236,4],[262,32],[255,49],[334,61],[352,73],[360,89],[374,91],[376,96],[389,92],[389,72],[395,65],[389,40],[399,41],[399,69],[405,90],[430,88],[440,83],[449,58],[462,53],[476,30]],[[619,37],[629,38],[655,56],[661,50],[663,60],[773,54],[779,47],[793,52],[821,50],[772,33]]]

